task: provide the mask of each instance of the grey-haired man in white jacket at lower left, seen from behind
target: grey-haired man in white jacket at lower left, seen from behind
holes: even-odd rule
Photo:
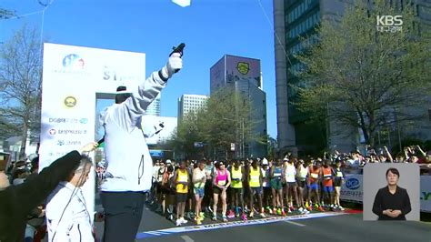
[[[90,158],[82,156],[68,181],[60,182],[48,197],[45,217],[49,242],[95,241],[92,217],[81,190],[91,166]]]

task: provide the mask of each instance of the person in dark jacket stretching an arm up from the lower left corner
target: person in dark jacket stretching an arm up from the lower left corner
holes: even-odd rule
[[[5,173],[0,173],[0,241],[24,241],[27,216],[79,165],[81,154],[96,146],[89,143],[80,151],[60,157],[39,175],[17,186],[9,186]]]

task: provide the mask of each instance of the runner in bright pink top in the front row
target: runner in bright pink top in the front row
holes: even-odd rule
[[[227,222],[226,217],[226,188],[230,186],[230,174],[229,171],[225,168],[225,162],[220,161],[217,164],[216,173],[214,174],[213,179],[213,190],[214,190],[214,204],[213,204],[213,220],[217,219],[217,203],[218,197],[222,199],[222,220],[223,222]]]

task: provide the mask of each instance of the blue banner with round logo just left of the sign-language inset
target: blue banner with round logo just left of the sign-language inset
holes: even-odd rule
[[[340,199],[362,203],[363,183],[362,175],[347,174],[341,186]]]

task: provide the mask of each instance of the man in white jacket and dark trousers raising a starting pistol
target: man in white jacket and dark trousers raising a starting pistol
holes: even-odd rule
[[[104,241],[135,241],[153,172],[141,122],[142,119],[145,122],[147,106],[182,67],[181,54],[173,53],[160,71],[153,72],[131,94],[115,96],[115,104],[107,107],[100,117],[105,128],[107,162],[101,186]]]

